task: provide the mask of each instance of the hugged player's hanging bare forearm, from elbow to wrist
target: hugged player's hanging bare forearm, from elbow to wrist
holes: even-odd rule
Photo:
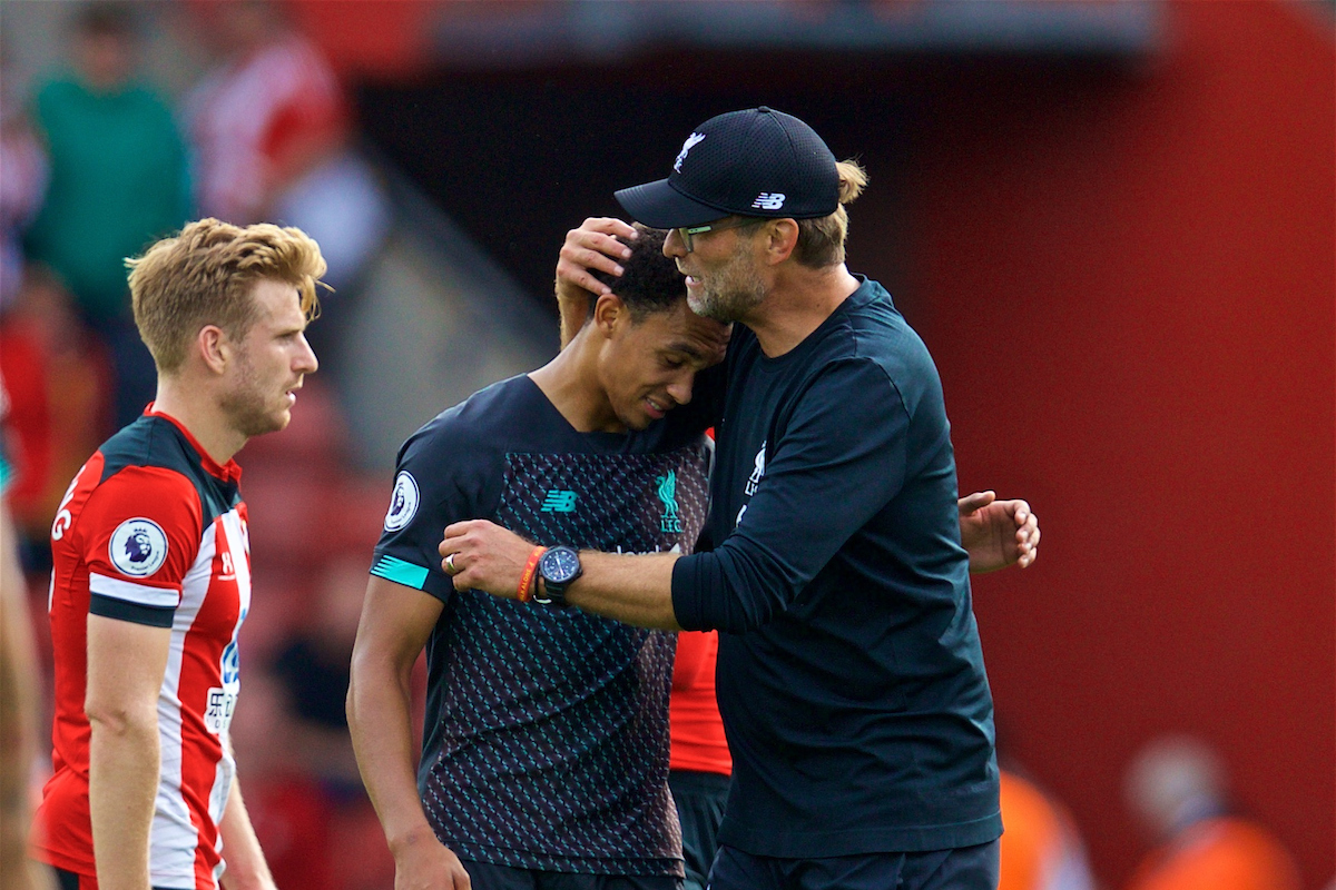
[[[399,667],[358,651],[353,654],[347,686],[347,726],[357,769],[395,854],[415,839],[436,839],[413,773],[410,670],[411,664]]]

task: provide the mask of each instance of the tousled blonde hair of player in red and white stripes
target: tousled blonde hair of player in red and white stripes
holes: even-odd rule
[[[159,374],[180,370],[206,324],[244,338],[259,311],[251,290],[262,279],[297,287],[310,322],[319,315],[315,286],[326,270],[319,244],[299,228],[240,227],[212,217],[188,224],[126,266],[135,324]]]

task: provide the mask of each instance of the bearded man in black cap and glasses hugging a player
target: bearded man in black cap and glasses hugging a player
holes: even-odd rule
[[[617,192],[669,230],[691,307],[740,323],[727,395],[696,394],[719,402],[713,551],[548,550],[481,520],[440,548],[457,588],[725,631],[715,890],[997,886],[993,701],[942,387],[887,292],[844,267],[843,204],[866,183],[763,107],[705,121],[668,179]],[[587,247],[566,259],[616,255]]]

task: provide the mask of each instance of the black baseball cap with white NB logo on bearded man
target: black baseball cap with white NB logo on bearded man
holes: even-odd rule
[[[653,228],[724,216],[811,219],[839,207],[835,155],[811,127],[762,105],[692,131],[668,179],[623,188],[617,203]]]

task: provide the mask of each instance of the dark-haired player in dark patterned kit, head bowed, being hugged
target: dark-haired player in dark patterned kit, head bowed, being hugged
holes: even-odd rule
[[[680,881],[667,790],[671,635],[550,600],[456,592],[436,552],[441,528],[470,516],[573,547],[691,551],[705,507],[703,418],[721,395],[717,375],[696,372],[719,360],[727,330],[689,312],[661,234],[624,234],[633,250],[587,230],[568,236],[558,284],[569,343],[557,359],[446,411],[399,455],[349,690],[397,886]],[[600,283],[592,306],[561,280],[589,280],[570,258],[591,238],[625,251],[615,292]],[[989,522],[1014,531],[1017,503]],[[529,555],[529,570],[553,579],[569,554]],[[1013,547],[1005,559],[1019,556]],[[409,673],[424,646],[414,778]]]

